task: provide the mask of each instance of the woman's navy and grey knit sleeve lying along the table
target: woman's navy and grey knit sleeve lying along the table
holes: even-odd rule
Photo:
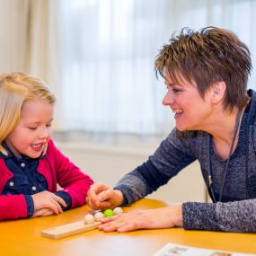
[[[183,227],[196,230],[256,233],[256,199],[182,205]]]

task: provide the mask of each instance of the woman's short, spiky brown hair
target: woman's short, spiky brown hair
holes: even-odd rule
[[[179,82],[179,74],[197,84],[204,97],[213,83],[226,84],[225,108],[242,109],[247,102],[247,82],[252,70],[250,50],[237,36],[216,27],[192,31],[183,28],[179,35],[172,34],[156,57],[156,75],[168,72],[173,82]]]

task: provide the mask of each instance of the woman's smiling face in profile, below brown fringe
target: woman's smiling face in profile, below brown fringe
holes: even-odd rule
[[[179,84],[174,83],[168,72],[165,84],[167,93],[163,105],[169,106],[175,113],[176,128],[180,131],[205,130],[213,109],[210,93],[205,93],[202,98],[196,84],[186,81],[181,75]]]

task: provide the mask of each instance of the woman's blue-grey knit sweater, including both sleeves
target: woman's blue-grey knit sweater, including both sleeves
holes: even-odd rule
[[[243,113],[238,144],[231,155],[226,173],[222,202],[183,203],[185,229],[256,232],[256,94],[252,90],[248,93],[252,100]],[[248,119],[250,107],[252,114]],[[180,132],[174,128],[147,162],[126,174],[115,189],[123,192],[126,204],[129,205],[157,190],[195,160],[199,160],[207,184],[210,155],[212,188],[216,199],[219,199],[226,160],[221,161],[217,157],[212,144],[210,154],[207,153],[207,137],[209,135],[203,131]],[[247,145],[246,137],[249,142]]]

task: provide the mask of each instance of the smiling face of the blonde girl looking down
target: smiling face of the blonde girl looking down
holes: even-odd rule
[[[42,100],[24,103],[18,125],[5,139],[13,154],[40,157],[50,138],[53,108]]]

